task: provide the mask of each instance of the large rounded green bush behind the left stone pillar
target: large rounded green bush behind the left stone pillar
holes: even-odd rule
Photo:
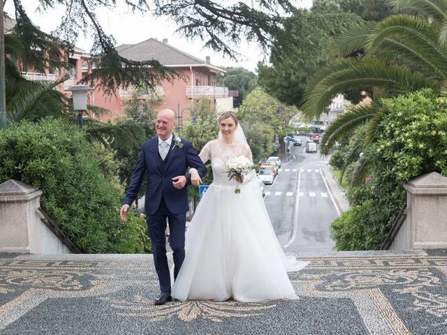
[[[145,221],[119,220],[122,191],[99,168],[97,150],[59,119],[22,121],[0,131],[0,183],[41,189],[41,207],[84,253],[142,253]]]

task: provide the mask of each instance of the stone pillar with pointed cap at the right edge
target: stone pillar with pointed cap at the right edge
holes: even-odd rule
[[[410,249],[447,248],[447,178],[437,172],[404,184]]]

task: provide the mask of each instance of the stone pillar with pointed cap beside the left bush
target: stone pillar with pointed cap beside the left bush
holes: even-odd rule
[[[13,179],[0,184],[0,252],[35,253],[40,248],[34,236],[42,193]]]

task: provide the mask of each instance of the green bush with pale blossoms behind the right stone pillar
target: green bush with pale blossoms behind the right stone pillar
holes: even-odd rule
[[[404,204],[403,184],[430,172],[447,176],[447,99],[423,89],[382,103],[377,140],[364,152],[372,181],[350,188],[353,209],[332,223],[339,250],[379,248]]]

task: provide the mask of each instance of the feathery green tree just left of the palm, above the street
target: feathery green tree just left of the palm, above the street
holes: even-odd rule
[[[272,65],[258,64],[259,83],[283,103],[302,104],[308,78],[335,57],[331,51],[334,36],[361,20],[341,10],[325,10],[295,10],[277,34]]]

